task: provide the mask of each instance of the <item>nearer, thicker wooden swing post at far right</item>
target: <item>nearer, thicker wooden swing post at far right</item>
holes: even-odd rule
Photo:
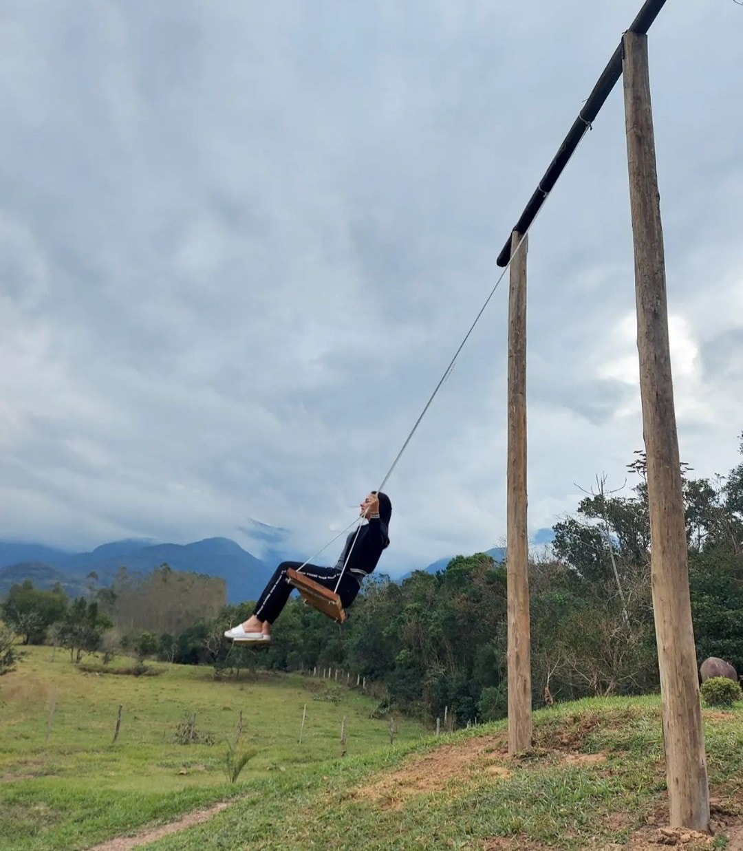
[[[648,37],[627,32],[623,61],[637,349],[648,461],[650,569],[668,801],[672,826],[704,831],[710,819],[709,786],[668,345],[666,267],[650,106]]]

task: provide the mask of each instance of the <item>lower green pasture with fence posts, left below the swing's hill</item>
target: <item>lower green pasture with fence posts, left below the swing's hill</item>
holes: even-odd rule
[[[243,671],[237,682],[215,682],[211,668],[154,663],[157,677],[95,676],[71,665],[68,654],[57,652],[54,662],[51,656],[50,648],[28,648],[18,670],[0,680],[3,849],[88,848],[243,795],[256,780],[271,785],[339,757],[343,717],[346,758],[390,746],[386,720],[369,717],[375,701],[334,681]],[[241,743],[257,752],[231,784],[224,762],[241,711]],[[188,714],[214,744],[176,743],[176,727]],[[396,726],[396,747],[425,734],[418,722],[397,719]]]

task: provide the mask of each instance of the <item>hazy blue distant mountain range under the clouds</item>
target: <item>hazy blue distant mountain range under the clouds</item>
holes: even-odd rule
[[[506,557],[503,547],[487,551],[496,562]],[[446,568],[454,556],[439,558],[426,568],[435,574]],[[0,596],[10,586],[30,579],[37,588],[49,589],[56,583],[70,597],[76,597],[89,585],[86,578],[97,575],[100,585],[110,585],[117,570],[147,574],[168,563],[174,570],[219,576],[227,586],[227,602],[242,603],[260,595],[276,564],[282,560],[271,554],[271,562],[261,561],[229,538],[207,538],[192,544],[158,544],[151,540],[117,540],[92,552],[66,552],[41,544],[20,544],[0,540]],[[402,581],[410,574],[401,576]]]

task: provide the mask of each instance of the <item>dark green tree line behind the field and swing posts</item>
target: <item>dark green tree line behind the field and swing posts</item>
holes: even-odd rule
[[[697,654],[700,661],[719,656],[741,671],[743,463],[714,478],[695,478],[683,467]],[[619,490],[597,477],[575,511],[555,523],[551,547],[530,559],[535,705],[659,688],[642,453],[626,475],[634,486]],[[274,640],[260,648],[233,646],[222,635],[250,614],[252,602],[225,606],[209,578],[184,576],[190,578],[167,566],[136,581],[124,572],[111,589],[92,591],[83,603],[96,606],[129,648],[141,651],[137,643],[146,635],[151,654],[213,665],[217,676],[246,666],[341,668],[384,687],[382,710],[395,706],[435,718],[448,707],[460,723],[506,715],[506,568],[483,553],[455,557],[436,574],[418,571],[402,582],[370,577],[342,626],[292,600]],[[6,621],[16,587],[3,603]],[[180,589],[177,605],[170,599],[174,588]],[[48,595],[49,620],[59,595],[35,593]],[[207,597],[209,611],[199,609]],[[83,603],[74,603],[81,607],[77,614]],[[111,630],[101,632],[99,646],[106,634]],[[39,637],[38,631],[25,635]]]

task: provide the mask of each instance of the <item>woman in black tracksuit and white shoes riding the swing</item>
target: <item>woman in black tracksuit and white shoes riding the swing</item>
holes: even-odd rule
[[[289,568],[301,568],[301,574],[319,585],[324,585],[330,591],[336,591],[335,586],[340,578],[337,593],[343,608],[348,608],[356,598],[364,577],[374,570],[382,551],[390,544],[388,529],[392,517],[392,502],[386,494],[373,490],[363,500],[359,513],[361,517],[366,518],[367,523],[358,529],[358,532],[354,529],[346,538],[346,545],[333,568],[318,568],[314,564],[303,565],[300,562],[282,562],[258,598],[258,603],[255,603],[253,614],[243,624],[227,630],[225,637],[236,642],[271,641],[271,624],[281,614],[294,590],[287,577]]]

